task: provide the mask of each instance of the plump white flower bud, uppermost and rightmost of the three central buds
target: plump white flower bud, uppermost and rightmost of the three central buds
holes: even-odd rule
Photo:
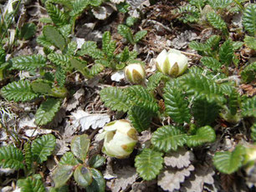
[[[162,50],[156,58],[156,68],[161,73],[177,77],[187,69],[188,59],[177,49],[170,49],[167,53],[166,49]]]

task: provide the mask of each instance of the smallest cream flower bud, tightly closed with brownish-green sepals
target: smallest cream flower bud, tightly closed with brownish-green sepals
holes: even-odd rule
[[[141,84],[146,78],[145,69],[141,63],[132,63],[125,67],[125,78],[132,84]]]

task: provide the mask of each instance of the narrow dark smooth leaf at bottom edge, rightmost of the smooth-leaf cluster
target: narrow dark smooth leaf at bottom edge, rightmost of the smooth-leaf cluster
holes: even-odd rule
[[[90,172],[92,173],[93,181],[85,188],[86,192],[105,192],[105,179],[102,174],[100,174],[100,171],[97,169],[90,169]]]

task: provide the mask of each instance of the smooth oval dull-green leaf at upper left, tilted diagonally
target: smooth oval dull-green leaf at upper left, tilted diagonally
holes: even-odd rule
[[[50,43],[53,43],[54,46],[59,48],[60,50],[63,50],[66,46],[65,39],[57,28],[49,25],[44,26],[43,33],[46,40]]]

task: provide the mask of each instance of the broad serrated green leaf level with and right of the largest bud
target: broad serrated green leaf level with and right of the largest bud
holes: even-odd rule
[[[151,138],[151,143],[164,152],[177,150],[187,142],[187,134],[184,134],[181,129],[172,125],[166,125],[156,129]]]

